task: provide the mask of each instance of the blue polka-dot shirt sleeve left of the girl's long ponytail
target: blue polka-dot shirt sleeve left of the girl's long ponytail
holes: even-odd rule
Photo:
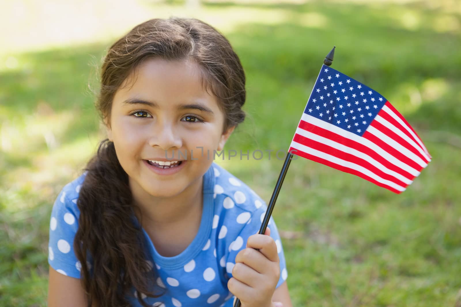
[[[80,278],[80,261],[74,253],[74,237],[78,229],[77,198],[66,187],[53,204],[48,241],[48,263],[61,274]]]

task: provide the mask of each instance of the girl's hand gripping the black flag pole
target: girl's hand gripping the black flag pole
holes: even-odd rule
[[[277,245],[270,235],[267,227],[264,235],[250,236],[247,248],[236,255],[227,287],[240,299],[242,307],[277,306],[272,295],[280,278],[280,266]]]

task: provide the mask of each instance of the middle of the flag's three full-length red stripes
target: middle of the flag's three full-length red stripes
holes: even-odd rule
[[[370,170],[372,173],[378,175],[379,177],[381,177],[381,178],[383,178],[385,180],[389,180],[391,182],[394,182],[395,184],[400,185],[402,187],[406,187],[408,185],[408,184],[402,182],[401,180],[395,178],[394,176],[391,176],[390,174],[384,173],[382,170],[377,168],[372,163],[370,163],[370,162],[368,162],[368,161],[366,161],[366,160],[364,160],[362,158],[359,158],[357,156],[354,156],[354,155],[352,155],[350,153],[340,151],[340,150],[338,150],[336,148],[333,148],[333,147],[331,147],[329,145],[325,145],[323,143],[314,141],[313,139],[308,139],[308,138],[306,138],[306,137],[304,137],[302,135],[299,135],[297,133],[295,134],[295,137],[293,138],[293,140],[296,143],[308,146],[310,148],[313,148],[313,149],[316,149],[318,151],[324,152],[324,153],[329,154],[331,156],[335,156],[335,157],[343,159],[345,161],[352,162],[352,163],[355,163],[357,165],[360,165],[361,167],[364,167],[364,168]]]

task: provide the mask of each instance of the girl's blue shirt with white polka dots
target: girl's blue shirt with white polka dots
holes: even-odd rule
[[[57,272],[73,278],[80,278],[81,271],[73,241],[80,214],[77,198],[84,177],[85,174],[65,185],[53,205],[50,220],[48,263]],[[183,252],[173,257],[160,255],[142,229],[148,249],[146,255],[149,255],[146,261],[165,294],[158,298],[143,294],[141,297],[157,307],[233,306],[227,282],[232,277],[236,255],[245,249],[248,237],[259,232],[266,209],[264,201],[253,190],[213,162],[203,176],[201,224]],[[137,223],[136,218],[134,220]],[[280,259],[279,287],[288,276],[284,251],[272,217],[268,227]],[[91,261],[88,265],[91,269]],[[126,296],[131,306],[142,306],[137,296],[134,288]]]

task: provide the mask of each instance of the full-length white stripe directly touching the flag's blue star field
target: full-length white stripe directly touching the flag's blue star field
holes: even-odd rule
[[[332,125],[328,122],[324,122],[322,120],[319,120],[318,118],[315,118],[313,116],[307,115],[306,113],[303,113],[301,116],[301,120],[305,122],[309,122],[315,126],[319,126],[321,128],[324,128],[328,131],[331,131],[333,133],[339,134],[344,138],[351,139],[355,142],[358,142],[368,148],[370,148],[372,151],[376,152],[378,155],[382,156],[384,159],[387,161],[391,162],[392,164],[396,165],[399,168],[402,168],[403,170],[407,171],[408,173],[412,174],[413,176],[419,176],[420,172],[417,169],[412,168],[408,164],[400,161],[397,159],[395,156],[392,156],[389,152],[385,151],[372,141],[362,138],[360,135],[357,135],[355,133],[346,131],[344,129],[341,129],[340,127],[337,127],[335,125]]]

